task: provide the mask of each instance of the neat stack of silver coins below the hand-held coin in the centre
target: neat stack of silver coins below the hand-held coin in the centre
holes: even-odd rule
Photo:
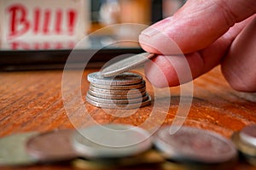
[[[88,75],[90,88],[86,101],[96,107],[109,109],[135,109],[151,104],[143,77],[124,72],[113,77],[102,77],[101,72]]]

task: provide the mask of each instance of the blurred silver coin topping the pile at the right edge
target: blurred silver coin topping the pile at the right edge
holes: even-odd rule
[[[247,144],[252,144],[256,147],[256,125],[247,126],[241,129],[240,138]]]

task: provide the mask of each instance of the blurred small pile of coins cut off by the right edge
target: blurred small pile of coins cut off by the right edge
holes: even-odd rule
[[[231,139],[241,156],[256,166],[256,125],[244,127],[240,132],[234,133]]]

